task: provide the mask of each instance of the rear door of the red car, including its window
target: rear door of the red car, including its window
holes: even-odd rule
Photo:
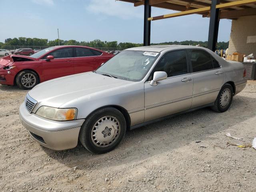
[[[101,60],[102,52],[89,48],[75,48],[74,73],[93,71],[104,62]]]

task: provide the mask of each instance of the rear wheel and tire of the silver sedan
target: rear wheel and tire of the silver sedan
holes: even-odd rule
[[[221,88],[218,97],[212,106],[212,110],[216,112],[225,112],[230,107],[233,99],[233,88],[230,84],[224,84]]]

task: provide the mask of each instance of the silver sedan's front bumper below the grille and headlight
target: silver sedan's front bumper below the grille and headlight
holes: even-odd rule
[[[84,119],[66,122],[48,120],[29,113],[24,102],[20,106],[19,114],[22,125],[42,146],[53,150],[65,150],[77,146]]]

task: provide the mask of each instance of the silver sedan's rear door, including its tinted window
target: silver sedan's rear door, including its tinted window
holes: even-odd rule
[[[188,57],[194,79],[192,108],[214,102],[224,84],[222,67],[205,50],[188,50]]]

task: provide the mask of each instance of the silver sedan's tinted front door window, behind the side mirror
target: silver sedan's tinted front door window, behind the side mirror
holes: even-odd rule
[[[156,64],[154,72],[156,71],[165,71],[168,77],[187,74],[186,51],[180,50],[165,54]]]

